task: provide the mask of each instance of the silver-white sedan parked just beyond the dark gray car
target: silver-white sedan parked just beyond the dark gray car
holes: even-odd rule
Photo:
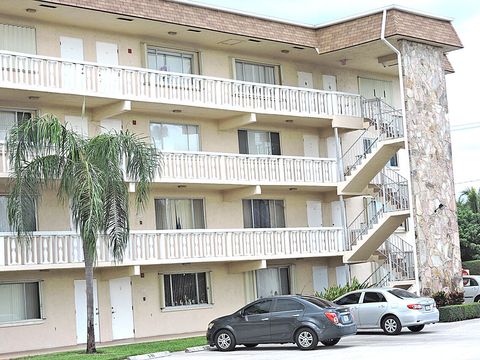
[[[352,291],[334,301],[350,309],[359,329],[381,328],[397,335],[402,327],[419,332],[439,320],[435,301],[397,288],[370,288]]]

